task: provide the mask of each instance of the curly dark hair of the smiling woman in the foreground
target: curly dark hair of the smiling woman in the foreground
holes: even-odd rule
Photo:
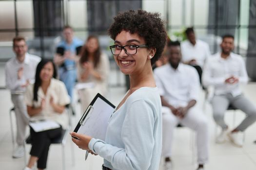
[[[156,54],[151,59],[151,64],[154,64],[161,56],[167,34],[164,28],[164,21],[160,18],[159,13],[150,13],[144,10],[129,10],[119,13],[114,17],[114,23],[110,26],[108,33],[115,40],[121,31],[138,34],[144,38],[148,47],[156,49]]]

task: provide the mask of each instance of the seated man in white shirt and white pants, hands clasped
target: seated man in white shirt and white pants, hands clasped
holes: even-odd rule
[[[195,105],[200,89],[195,68],[180,63],[179,42],[168,43],[169,64],[154,70],[162,102],[163,146],[165,169],[171,170],[173,132],[177,124],[187,126],[197,133],[198,170],[208,161],[207,119]]]

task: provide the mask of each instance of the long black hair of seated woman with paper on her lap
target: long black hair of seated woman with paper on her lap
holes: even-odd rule
[[[38,89],[39,86],[41,85],[42,81],[40,79],[40,72],[42,70],[42,68],[44,67],[44,65],[46,65],[47,63],[52,63],[53,64],[53,78],[57,77],[57,69],[55,64],[53,63],[53,60],[51,59],[42,59],[37,66],[36,69],[36,76],[35,76],[35,84],[34,84],[34,101],[38,101]]]

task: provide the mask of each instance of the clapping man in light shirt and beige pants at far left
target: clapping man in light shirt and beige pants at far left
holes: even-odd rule
[[[17,123],[17,146],[13,151],[13,158],[24,155],[23,141],[26,137],[29,116],[23,94],[26,86],[34,83],[36,68],[41,60],[39,56],[27,53],[27,50],[25,38],[22,36],[15,37],[13,39],[13,51],[16,57],[11,58],[5,65],[6,87],[11,90]]]

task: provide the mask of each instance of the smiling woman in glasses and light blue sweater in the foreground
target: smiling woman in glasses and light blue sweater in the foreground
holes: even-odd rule
[[[73,142],[104,158],[103,170],[158,170],[162,147],[161,100],[152,64],[166,41],[158,13],[130,10],[109,29],[115,61],[129,75],[130,89],[110,116],[105,140],[72,132]]]

